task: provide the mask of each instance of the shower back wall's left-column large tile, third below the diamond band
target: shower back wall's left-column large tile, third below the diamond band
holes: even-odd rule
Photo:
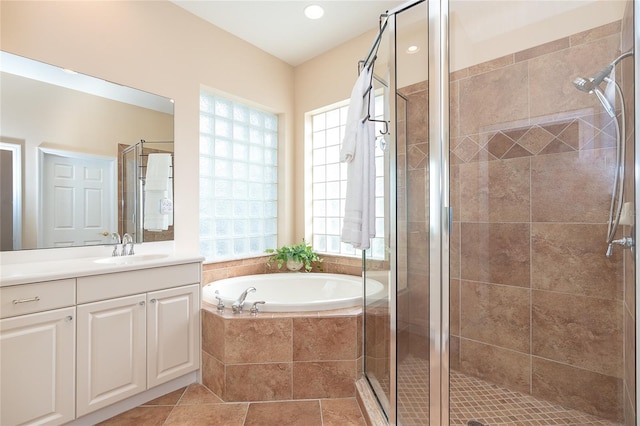
[[[461,337],[529,352],[528,288],[461,281],[460,294]]]

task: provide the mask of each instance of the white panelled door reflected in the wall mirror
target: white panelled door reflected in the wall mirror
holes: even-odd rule
[[[43,152],[39,247],[108,243],[117,230],[111,159]]]

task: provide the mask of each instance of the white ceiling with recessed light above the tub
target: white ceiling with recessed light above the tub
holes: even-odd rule
[[[172,3],[297,66],[377,28],[380,14],[406,1],[172,0]],[[324,16],[318,20],[306,18],[304,8],[310,4],[322,6]]]

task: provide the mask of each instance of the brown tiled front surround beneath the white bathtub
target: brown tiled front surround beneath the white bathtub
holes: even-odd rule
[[[360,308],[232,314],[202,309],[202,381],[225,402],[353,398]]]

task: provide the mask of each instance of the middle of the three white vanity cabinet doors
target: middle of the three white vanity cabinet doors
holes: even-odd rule
[[[146,389],[144,294],[78,305],[77,415]]]

